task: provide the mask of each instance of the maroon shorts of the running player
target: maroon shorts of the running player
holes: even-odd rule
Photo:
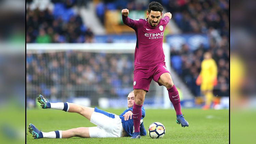
[[[170,74],[166,68],[165,62],[151,67],[134,66],[133,89],[142,89],[148,92],[152,78],[157,82],[163,73]],[[158,84],[161,86],[160,83]]]

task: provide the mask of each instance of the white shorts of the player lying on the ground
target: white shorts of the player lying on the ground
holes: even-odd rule
[[[90,122],[97,125],[97,127],[89,127],[91,138],[117,138],[122,136],[122,120],[116,114],[95,107]]]

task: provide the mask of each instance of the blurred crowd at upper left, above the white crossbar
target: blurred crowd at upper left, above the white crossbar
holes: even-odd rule
[[[72,1],[54,1],[54,9],[26,10],[27,43],[91,43],[93,32],[80,15],[75,14]]]

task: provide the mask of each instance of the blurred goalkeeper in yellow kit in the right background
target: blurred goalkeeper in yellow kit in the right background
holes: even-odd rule
[[[201,71],[196,84],[201,85],[201,92],[205,96],[203,109],[209,109],[213,101],[213,87],[217,85],[217,65],[210,52],[205,52],[203,57],[204,60],[201,63]]]

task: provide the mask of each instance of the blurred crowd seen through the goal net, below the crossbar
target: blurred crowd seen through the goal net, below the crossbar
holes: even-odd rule
[[[26,58],[28,96],[122,97],[132,89],[133,54],[68,51]]]

